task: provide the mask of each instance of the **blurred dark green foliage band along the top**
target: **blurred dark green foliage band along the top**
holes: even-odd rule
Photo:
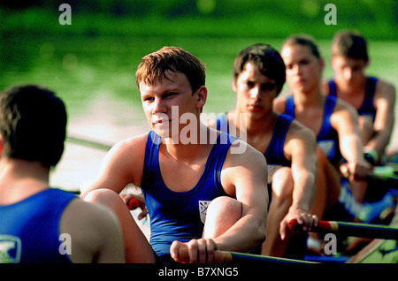
[[[57,23],[60,4],[72,7],[72,26]],[[325,25],[325,4],[337,25]],[[330,39],[357,29],[370,40],[397,40],[396,0],[2,0],[0,32],[286,38],[308,33]]]

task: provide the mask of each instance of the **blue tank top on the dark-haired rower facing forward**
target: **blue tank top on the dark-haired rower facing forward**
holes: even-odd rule
[[[265,160],[267,161],[268,170],[268,184],[272,182],[272,175],[279,168],[291,166],[291,162],[287,160],[283,152],[283,144],[285,143],[286,134],[292,123],[293,118],[286,114],[280,114],[272,133],[272,138],[268,148],[264,152]],[[221,132],[228,132],[228,121],[226,113],[218,115],[216,118],[217,130]]]

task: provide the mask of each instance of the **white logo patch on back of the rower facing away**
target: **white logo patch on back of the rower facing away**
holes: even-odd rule
[[[0,263],[18,263],[22,243],[19,237],[0,235]]]

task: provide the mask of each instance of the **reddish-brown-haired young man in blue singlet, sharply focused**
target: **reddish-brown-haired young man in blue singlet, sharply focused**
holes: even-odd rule
[[[215,250],[260,245],[268,204],[264,156],[200,122],[207,98],[203,63],[165,47],[143,57],[135,75],[153,131],[112,148],[82,194],[119,216],[127,262],[218,262]],[[142,189],[150,245],[119,197],[129,183]],[[180,247],[187,260],[180,260]]]

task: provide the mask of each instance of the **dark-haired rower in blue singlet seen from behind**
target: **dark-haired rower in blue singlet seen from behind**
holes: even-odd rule
[[[65,104],[47,88],[0,93],[0,263],[124,262],[111,210],[49,187],[66,119]]]

